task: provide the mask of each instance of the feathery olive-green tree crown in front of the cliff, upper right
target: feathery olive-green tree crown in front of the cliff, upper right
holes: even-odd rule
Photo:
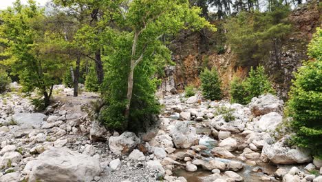
[[[275,3],[268,12],[240,12],[228,19],[227,43],[237,54],[237,66],[257,66],[264,63],[270,52],[280,49],[281,42],[290,33],[290,23],[285,21],[290,8]]]

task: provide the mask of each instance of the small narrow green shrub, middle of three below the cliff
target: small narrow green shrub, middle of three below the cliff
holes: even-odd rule
[[[246,104],[244,99],[246,96],[246,91],[243,85],[243,81],[238,77],[234,77],[230,82],[230,102]]]

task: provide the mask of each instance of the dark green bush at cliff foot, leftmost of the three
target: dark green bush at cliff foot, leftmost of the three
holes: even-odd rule
[[[222,81],[219,79],[215,68],[211,70],[208,70],[208,68],[204,69],[200,74],[200,79],[202,81],[201,88],[204,98],[211,100],[222,99],[222,90],[220,89]]]

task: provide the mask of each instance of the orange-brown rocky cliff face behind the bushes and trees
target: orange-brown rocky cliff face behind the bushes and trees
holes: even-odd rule
[[[316,1],[310,1],[293,10],[289,16],[294,32],[281,45],[277,53],[272,52],[269,61],[264,65],[270,75],[279,97],[286,99],[292,80],[292,72],[308,59],[306,46],[316,27],[321,26],[321,8]],[[218,37],[216,33],[202,30],[200,32],[182,32],[172,43],[173,61],[175,66],[167,67],[166,77],[160,90],[166,94],[184,89],[186,85],[200,86],[200,72],[205,68],[217,68],[223,81],[224,92],[227,94],[228,83],[233,78],[245,77],[249,68],[236,67],[237,57],[230,51],[229,45],[225,52],[218,54]]]

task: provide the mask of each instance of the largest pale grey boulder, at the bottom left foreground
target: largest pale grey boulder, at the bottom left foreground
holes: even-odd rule
[[[67,148],[50,148],[25,168],[32,169],[30,182],[92,181],[100,174],[100,161]]]

